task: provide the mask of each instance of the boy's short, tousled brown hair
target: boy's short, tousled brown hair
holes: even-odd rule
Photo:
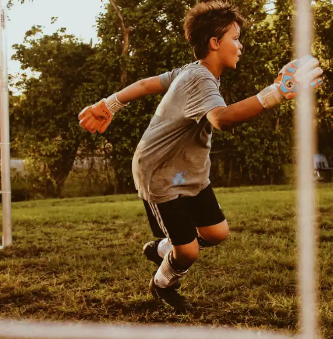
[[[206,57],[210,38],[222,39],[233,22],[241,28],[245,25],[239,8],[229,2],[208,0],[190,8],[185,16],[184,31],[195,57],[198,60]]]

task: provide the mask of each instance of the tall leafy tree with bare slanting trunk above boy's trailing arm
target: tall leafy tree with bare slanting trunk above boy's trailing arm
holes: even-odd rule
[[[97,22],[98,35],[102,39],[97,55],[102,75],[98,82],[107,85],[103,97],[139,79],[161,74],[192,60],[181,26],[188,2],[194,3],[110,1],[108,12]],[[126,41],[128,49],[125,48]],[[160,99],[161,96],[153,96],[132,102],[116,115],[112,126],[102,136],[113,145],[110,156],[114,159],[118,192],[134,190],[131,159]]]

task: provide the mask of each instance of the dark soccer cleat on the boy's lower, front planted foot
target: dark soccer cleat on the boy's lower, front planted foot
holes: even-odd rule
[[[149,283],[149,290],[153,297],[167,303],[175,311],[190,311],[194,309],[192,304],[184,296],[181,296],[173,286],[166,288],[157,286],[154,281],[155,274],[156,272],[154,272],[153,278]]]

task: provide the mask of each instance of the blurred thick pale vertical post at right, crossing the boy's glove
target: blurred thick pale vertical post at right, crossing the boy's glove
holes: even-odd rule
[[[295,45],[296,57],[311,54],[312,19],[311,0],[296,0]],[[303,89],[297,98],[297,203],[298,203],[298,248],[299,292],[301,297],[300,326],[303,338],[317,338],[316,300],[316,227],[315,183],[313,156],[315,150],[313,90]]]

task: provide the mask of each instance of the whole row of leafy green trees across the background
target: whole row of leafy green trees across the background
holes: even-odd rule
[[[245,47],[237,70],[221,77],[221,94],[227,104],[255,95],[270,85],[281,67],[293,58],[292,1],[275,0],[267,12],[266,0],[235,1],[248,25],[241,40]],[[15,60],[23,69],[39,72],[22,77],[22,98],[11,100],[11,135],[21,154],[47,164],[53,183],[50,194],[59,195],[76,154],[103,153],[115,172],[114,192],[133,192],[131,159],[161,95],[130,103],[117,113],[103,134],[90,136],[78,125],[77,114],[88,104],[139,79],[156,76],[194,61],[183,36],[186,9],[196,0],[109,0],[96,22],[100,42],[84,44],[62,29],[43,36],[41,27],[27,32],[15,45]],[[319,149],[333,159],[332,139],[332,2],[313,1],[313,44],[325,69],[318,93]],[[127,43],[128,38],[128,43]],[[293,162],[293,103],[233,129],[214,131],[211,179],[214,185],[272,184],[285,181],[283,166]],[[50,119],[50,114],[52,119]],[[20,122],[20,124],[18,124]],[[110,147],[103,149],[103,145]]]

